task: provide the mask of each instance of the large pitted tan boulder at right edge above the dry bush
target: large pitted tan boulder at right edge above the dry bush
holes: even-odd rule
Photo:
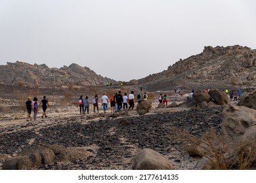
[[[221,133],[226,144],[256,137],[256,110],[228,105],[223,110]]]

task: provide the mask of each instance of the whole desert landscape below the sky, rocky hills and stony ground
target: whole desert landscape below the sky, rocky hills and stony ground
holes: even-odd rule
[[[255,80],[256,50],[240,45],[205,46],[160,73],[129,82],[75,63],[57,69],[7,62],[0,65],[0,169],[132,169],[144,149],[175,169],[255,167]],[[79,112],[80,95],[92,101],[95,94],[133,90],[136,96],[140,86],[146,86],[148,103],[139,108],[135,99],[134,110],[104,113],[100,103],[98,113],[92,105],[89,114]],[[226,89],[242,90],[242,96],[231,101]],[[160,93],[167,93],[168,107],[158,106]],[[27,97],[41,101],[44,95],[48,117],[41,118],[39,108],[37,120],[27,121]]]

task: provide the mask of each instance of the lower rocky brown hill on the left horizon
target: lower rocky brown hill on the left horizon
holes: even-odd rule
[[[0,65],[0,84],[14,86],[75,86],[98,85],[100,82],[116,82],[110,78],[96,75],[88,67],[81,67],[75,63],[60,69],[49,68],[47,65],[30,65],[16,61]]]

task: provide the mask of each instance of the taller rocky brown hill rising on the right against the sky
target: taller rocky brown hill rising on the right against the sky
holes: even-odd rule
[[[205,46],[201,54],[180,59],[166,71],[138,80],[148,90],[255,88],[256,50],[246,46]]]

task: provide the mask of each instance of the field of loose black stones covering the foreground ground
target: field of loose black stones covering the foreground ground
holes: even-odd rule
[[[85,147],[96,145],[95,156],[86,163],[75,160],[68,165],[41,165],[39,169],[131,169],[131,163],[123,163],[124,157],[133,156],[133,146],[139,149],[151,148],[166,156],[172,146],[182,150],[182,142],[177,141],[173,127],[184,129],[201,137],[214,128],[220,131],[223,121],[223,107],[193,108],[182,112],[127,116],[126,122],[120,119],[102,119],[98,122],[68,122],[39,129],[37,135],[32,131],[3,132],[0,136],[0,154],[13,154],[18,149],[30,148],[28,141],[59,144],[66,147]],[[120,125],[122,124],[122,125]],[[18,137],[18,138],[17,138]],[[120,141],[125,139],[125,141]],[[23,145],[23,146],[22,146]],[[35,144],[32,144],[34,146]],[[133,145],[133,146],[131,146]],[[76,167],[79,165],[79,167]],[[110,165],[110,167],[106,167]]]

